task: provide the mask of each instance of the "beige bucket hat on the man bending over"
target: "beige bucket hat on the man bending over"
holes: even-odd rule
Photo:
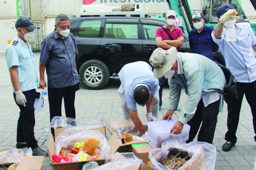
[[[177,50],[175,47],[169,50],[163,50],[162,48],[156,48],[150,59],[150,64],[155,68],[154,77],[163,77],[174,65],[177,59]]]

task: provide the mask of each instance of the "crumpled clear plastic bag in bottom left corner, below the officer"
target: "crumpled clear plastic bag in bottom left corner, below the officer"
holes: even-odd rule
[[[13,151],[13,153],[11,153]],[[19,164],[24,158],[24,152],[21,149],[5,150],[0,152],[0,163]]]

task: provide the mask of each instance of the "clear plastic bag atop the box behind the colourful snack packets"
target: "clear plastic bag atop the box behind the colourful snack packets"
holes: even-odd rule
[[[72,126],[86,127],[87,129],[106,127],[108,122],[103,118],[97,118],[95,120],[90,119],[74,119],[71,117],[54,116],[51,120],[49,127],[57,128],[70,128]]]

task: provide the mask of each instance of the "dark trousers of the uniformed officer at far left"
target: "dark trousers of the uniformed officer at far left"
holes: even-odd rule
[[[38,147],[36,143],[34,126],[35,126],[35,93],[36,90],[28,90],[22,92],[27,100],[26,107],[16,102],[16,94],[13,97],[17,106],[19,106],[19,119],[17,124],[17,142],[26,142],[27,147],[32,150]]]

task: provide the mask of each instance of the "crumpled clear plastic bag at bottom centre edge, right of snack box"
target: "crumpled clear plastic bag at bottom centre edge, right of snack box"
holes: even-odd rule
[[[105,160],[105,164],[98,166],[95,163],[87,163],[83,166],[82,170],[120,170],[127,169],[128,167],[139,167],[142,163],[141,159],[138,159],[133,152],[119,153],[109,155]]]

